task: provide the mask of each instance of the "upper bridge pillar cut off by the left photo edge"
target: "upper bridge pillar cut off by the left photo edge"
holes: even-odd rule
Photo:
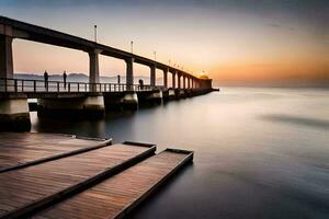
[[[12,39],[0,35],[0,78],[13,78]]]

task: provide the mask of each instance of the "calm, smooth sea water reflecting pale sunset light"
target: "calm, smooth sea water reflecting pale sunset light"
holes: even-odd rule
[[[224,88],[99,122],[34,131],[156,142],[194,163],[132,218],[329,218],[329,91]]]

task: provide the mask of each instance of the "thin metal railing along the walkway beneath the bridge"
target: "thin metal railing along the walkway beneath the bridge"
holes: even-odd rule
[[[122,92],[122,91],[151,91],[157,87],[125,83],[87,83],[87,82],[64,82],[25,79],[0,78],[0,92],[14,93],[70,93],[70,92]]]

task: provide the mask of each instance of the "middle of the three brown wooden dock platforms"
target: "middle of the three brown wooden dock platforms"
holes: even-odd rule
[[[21,218],[154,154],[155,146],[113,145],[0,174],[0,218]],[[4,212],[3,212],[4,211]]]

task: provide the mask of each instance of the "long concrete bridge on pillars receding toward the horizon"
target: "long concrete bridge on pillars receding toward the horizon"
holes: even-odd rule
[[[20,80],[13,72],[13,39],[26,39],[81,50],[89,56],[89,82]],[[213,91],[211,79],[200,79],[179,68],[97,42],[50,28],[0,16],[0,123],[20,129],[30,124],[27,99],[38,99],[38,114],[63,115],[76,111],[102,116],[105,106],[136,108],[145,102],[161,102]],[[99,56],[126,64],[125,83],[101,83]],[[134,64],[149,67],[150,84],[134,83]],[[156,84],[156,70],[163,72],[163,85]],[[168,78],[171,74],[171,87]],[[25,124],[25,125],[24,125]]]

